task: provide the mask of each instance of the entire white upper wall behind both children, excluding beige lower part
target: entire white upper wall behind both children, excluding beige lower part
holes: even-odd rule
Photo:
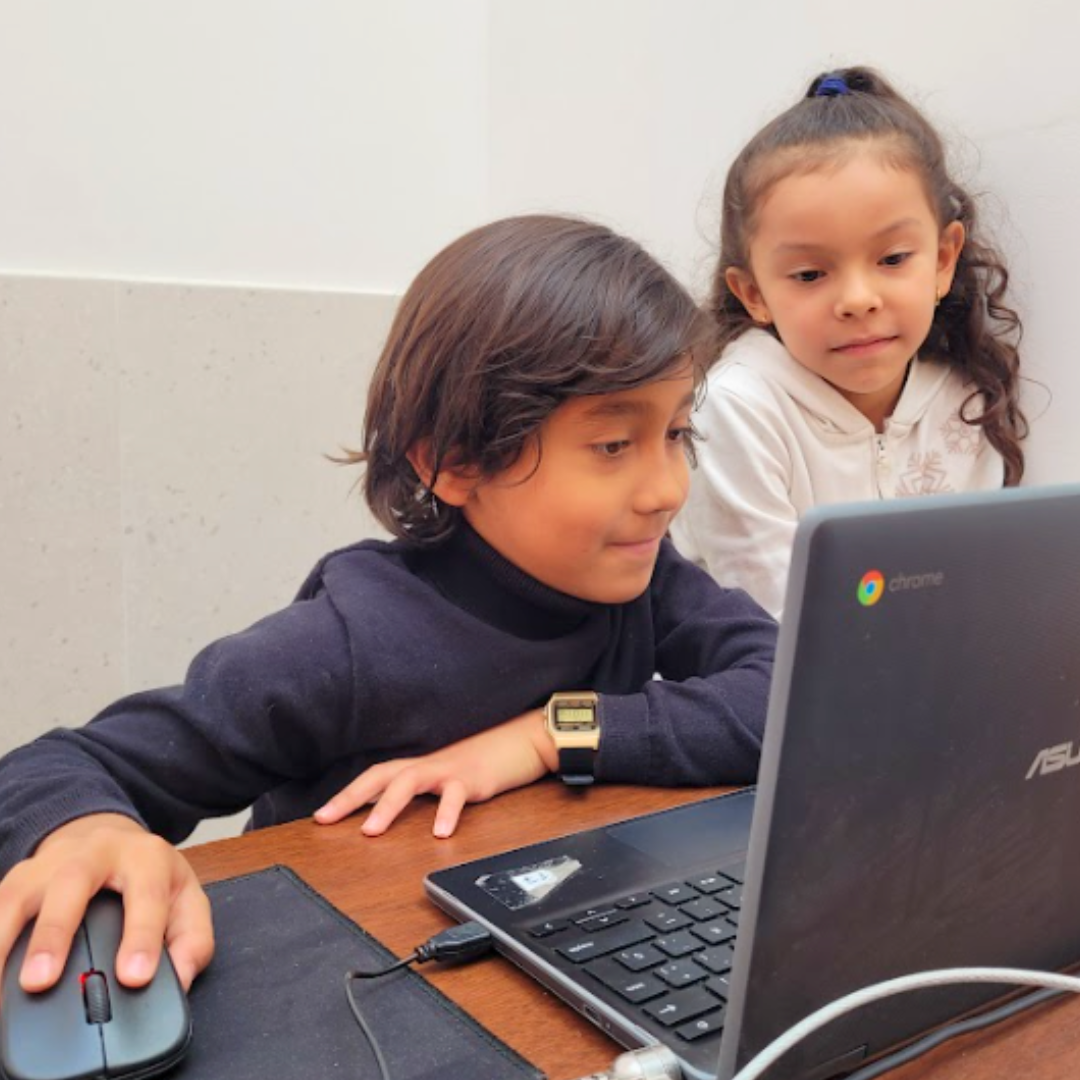
[[[1067,0],[0,0],[0,271],[400,292],[463,229],[558,207],[700,286],[733,151],[865,60],[1008,207],[1054,395],[1030,477],[1069,478],[1078,36]]]

